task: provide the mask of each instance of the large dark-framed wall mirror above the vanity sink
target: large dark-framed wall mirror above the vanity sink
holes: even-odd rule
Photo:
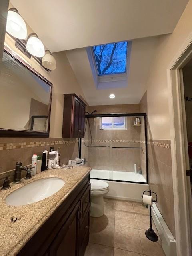
[[[0,136],[49,137],[52,84],[7,47],[0,74]]]

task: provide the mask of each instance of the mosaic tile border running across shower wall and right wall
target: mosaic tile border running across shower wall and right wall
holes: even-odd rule
[[[82,142],[84,139],[82,139]],[[90,142],[91,140],[85,140],[85,142]],[[92,140],[92,142],[118,142],[118,143],[142,143],[145,144],[144,140]],[[147,142],[148,145],[153,145],[161,148],[171,148],[170,143],[164,143],[164,142],[153,142],[149,140]]]

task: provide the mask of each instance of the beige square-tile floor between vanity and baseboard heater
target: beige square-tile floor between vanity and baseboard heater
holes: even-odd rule
[[[90,240],[84,256],[165,256],[160,238],[151,242],[145,236],[150,226],[145,206],[107,198],[104,204],[105,215],[90,218]]]

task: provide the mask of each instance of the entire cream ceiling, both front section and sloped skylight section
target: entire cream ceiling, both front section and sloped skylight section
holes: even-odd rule
[[[172,33],[188,0],[10,0],[52,52],[67,58],[90,105],[139,103],[158,37]],[[98,90],[86,47],[132,40],[127,86]],[[111,100],[109,94],[116,97]]]

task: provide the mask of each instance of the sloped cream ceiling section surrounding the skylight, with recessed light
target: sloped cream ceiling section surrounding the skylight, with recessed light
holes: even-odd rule
[[[98,90],[93,79],[86,48],[66,51],[76,78],[89,105],[135,104],[142,98],[152,65],[157,37],[140,38],[132,41],[130,68],[127,86]],[[113,83],[113,82],[112,82]],[[115,94],[114,99],[109,95]]]

